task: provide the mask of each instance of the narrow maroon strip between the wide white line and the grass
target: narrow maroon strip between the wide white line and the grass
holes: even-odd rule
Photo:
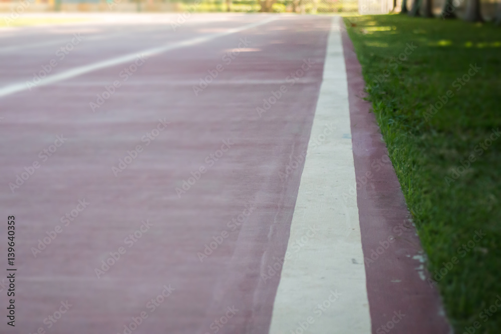
[[[450,333],[440,295],[427,281],[426,264],[419,261],[423,250],[410,223],[395,170],[390,163],[375,163],[386,158],[388,151],[371,104],[359,96],[365,87],[362,69],[342,19],[340,26],[348,78],[362,249],[365,259],[376,258],[365,263],[372,332]],[[371,164],[379,168],[372,168]],[[369,172],[371,174],[367,174]],[[381,253],[381,243],[388,248],[376,257],[373,250]],[[421,275],[426,279],[420,278],[418,270],[422,270]],[[401,312],[401,319],[395,317],[394,312]],[[382,327],[392,319],[398,322]]]

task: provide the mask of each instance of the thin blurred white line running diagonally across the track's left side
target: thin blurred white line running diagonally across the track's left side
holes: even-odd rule
[[[138,51],[136,53],[128,54],[125,56],[115,57],[115,58],[111,58],[111,59],[104,60],[101,62],[76,67],[74,69],[71,69],[71,70],[68,70],[68,71],[65,71],[65,72],[62,72],[59,74],[55,74],[52,76],[48,76],[48,77],[42,79],[42,81],[37,85],[37,87],[53,84],[53,83],[67,80],[70,78],[74,78],[74,77],[80,76],[82,74],[86,74],[86,73],[100,70],[103,68],[133,62],[134,60],[137,59],[137,57],[139,55],[143,55],[145,57],[151,57],[151,56],[158,55],[158,54],[166,52],[166,51],[180,49],[180,48],[189,47],[192,45],[208,42],[208,41],[211,41],[211,40],[219,38],[219,37],[238,33],[240,31],[247,30],[250,28],[259,27],[259,26],[262,26],[262,25],[267,24],[267,23],[274,21],[274,20],[276,20],[276,17],[270,17],[266,20],[251,23],[251,24],[244,25],[244,26],[241,26],[238,28],[228,29],[224,32],[210,34],[210,35],[197,37],[197,38],[192,38],[192,39],[189,39],[186,41],[172,43],[172,44],[164,45],[164,46],[157,47],[157,48],[146,49],[146,50]],[[4,87],[0,87],[0,97],[4,97],[4,96],[15,94],[18,92],[26,91],[28,89],[29,89],[28,85],[25,82],[7,85]]]

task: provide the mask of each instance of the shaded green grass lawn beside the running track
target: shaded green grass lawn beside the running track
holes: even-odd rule
[[[501,296],[501,27],[404,15],[345,22],[430,286],[457,333],[475,321],[476,333],[499,333],[501,307],[488,308]]]

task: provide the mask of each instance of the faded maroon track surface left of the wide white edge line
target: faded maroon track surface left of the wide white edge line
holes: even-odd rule
[[[331,19],[265,20],[194,18],[173,32],[168,20],[156,18],[146,24],[26,28],[0,35],[0,196],[5,214],[16,216],[18,268],[19,323],[15,331],[6,330],[122,333],[131,317],[144,311],[148,317],[137,329],[130,327],[135,333],[204,334],[216,327],[219,333],[268,331],[280,274],[264,282],[260,273],[286,252],[303,165],[285,181],[280,173],[308,145]],[[60,60],[57,50],[74,33],[83,40]],[[241,40],[248,46],[240,45],[243,49],[228,64],[222,57]],[[149,55],[126,82],[120,73],[134,61],[113,65],[124,55],[186,41],[191,45]],[[49,75],[56,76],[112,61],[11,93],[52,59],[58,65]],[[287,84],[308,59],[311,67]],[[195,96],[193,86],[219,64],[224,70]],[[93,112],[96,94],[116,80],[121,87]],[[288,91],[260,117],[256,107],[285,84]],[[157,128],[159,119],[170,123],[159,126],[162,131],[154,131],[146,145],[143,136]],[[40,152],[50,149],[58,135],[67,139],[45,161]],[[224,141],[230,148],[218,151]],[[119,160],[137,145],[142,148],[137,158],[115,176],[112,167],[119,168]],[[220,158],[207,158],[211,154]],[[9,183],[35,161],[40,167],[11,191]],[[176,188],[200,167],[204,174],[178,195]],[[84,199],[90,204],[65,226],[62,217]],[[246,206],[253,207],[252,213]],[[243,220],[239,215],[245,213],[241,226],[228,224],[232,218]],[[140,238],[128,237],[146,220],[151,227],[143,227]],[[57,225],[62,232],[36,252],[39,240]],[[221,239],[201,261],[197,253]],[[104,271],[102,261],[120,247],[125,253]],[[99,278],[96,268],[103,270]],[[148,302],[164,285],[174,290],[158,298],[152,311]],[[62,301],[72,306],[57,322],[44,323]],[[1,302],[5,309],[6,299]],[[228,313],[233,306],[238,311]],[[214,323],[225,314],[232,315],[226,324]]]

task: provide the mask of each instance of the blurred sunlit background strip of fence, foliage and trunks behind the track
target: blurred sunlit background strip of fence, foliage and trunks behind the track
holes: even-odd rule
[[[446,6],[452,6],[458,18],[465,18],[468,11],[477,12],[479,7],[483,20],[490,21],[496,11],[499,16],[501,6],[497,5],[495,0],[0,0],[0,13],[266,12],[352,16],[417,10],[417,15],[439,17]]]

